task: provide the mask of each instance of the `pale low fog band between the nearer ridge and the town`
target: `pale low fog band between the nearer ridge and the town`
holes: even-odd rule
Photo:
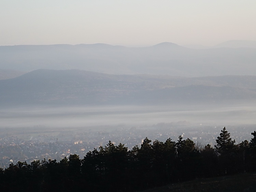
[[[255,124],[256,104],[190,106],[31,107],[0,110],[4,127],[87,127],[152,125],[188,121],[192,124]]]

